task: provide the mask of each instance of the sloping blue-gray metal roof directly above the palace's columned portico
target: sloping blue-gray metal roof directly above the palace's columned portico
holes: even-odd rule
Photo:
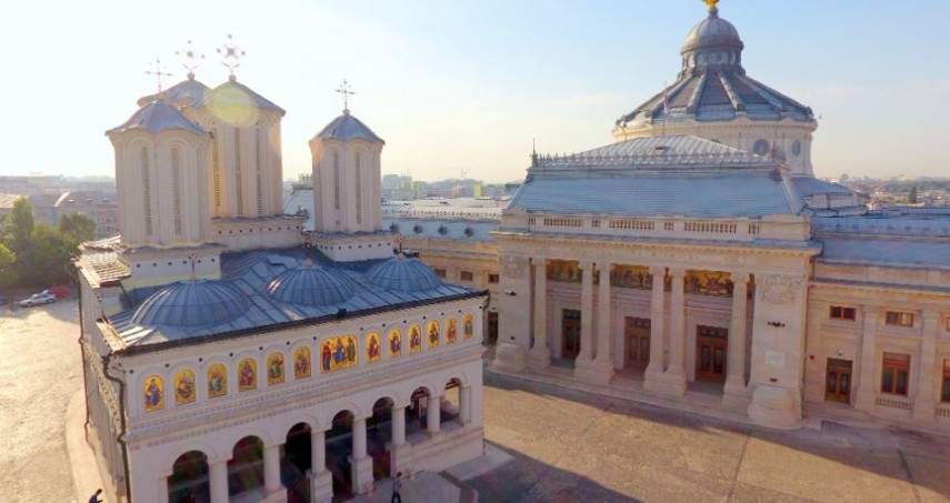
[[[756,218],[803,207],[781,164],[696,137],[638,138],[528,171],[510,208],[554,214]]]

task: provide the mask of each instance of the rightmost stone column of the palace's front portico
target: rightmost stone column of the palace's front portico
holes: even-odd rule
[[[751,393],[746,389],[746,320],[749,313],[749,273],[732,272],[732,322],[729,324],[729,359],[723,402],[744,408]]]

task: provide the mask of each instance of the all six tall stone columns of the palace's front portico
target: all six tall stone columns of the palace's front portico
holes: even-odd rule
[[[528,351],[528,364],[543,368],[550,363],[552,349],[548,344],[548,259],[531,259],[533,276],[533,344]],[[580,379],[609,382],[613,376],[614,348],[612,323],[611,271],[619,263],[610,261],[579,261],[581,271],[581,323],[580,353],[574,361],[574,375]],[[652,275],[650,295],[650,362],[644,374],[644,388],[681,395],[687,386],[687,310],[684,279],[689,269],[683,266],[649,265]],[[594,285],[594,272],[600,282]],[[748,398],[746,391],[747,315],[750,274],[746,271],[728,271],[733,282],[731,322],[729,324],[727,376],[724,398]],[[670,279],[669,295],[664,289]],[[597,295],[594,290],[597,286]],[[669,315],[667,299],[669,298]],[[669,320],[669,328],[667,321]],[[669,329],[669,330],[668,330]],[[669,344],[666,334],[669,333]]]

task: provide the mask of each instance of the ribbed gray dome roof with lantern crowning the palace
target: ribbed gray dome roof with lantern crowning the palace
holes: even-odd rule
[[[617,125],[656,121],[729,121],[791,118],[812,122],[811,109],[746,76],[743,43],[716,8],[683,44],[682,71],[672,85],[617,120]]]

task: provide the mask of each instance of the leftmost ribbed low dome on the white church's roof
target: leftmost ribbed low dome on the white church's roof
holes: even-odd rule
[[[216,325],[240,316],[249,304],[241,293],[216,281],[179,281],[146,299],[136,310],[132,322],[139,325]]]

